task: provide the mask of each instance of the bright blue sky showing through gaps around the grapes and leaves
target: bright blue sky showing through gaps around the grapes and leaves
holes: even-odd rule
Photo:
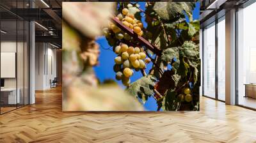
[[[142,10],[145,10],[145,2],[139,2],[140,8]],[[200,10],[200,3],[196,3],[196,8],[193,10],[193,19],[198,20],[199,19],[199,10]],[[188,17],[186,17],[188,20]],[[147,23],[145,22],[145,18],[141,19],[143,22],[143,25],[146,27]],[[115,80],[118,85],[120,85],[122,88],[125,89],[125,86],[122,85],[122,81],[118,81],[115,79],[115,72],[113,70],[113,66],[115,64],[114,59],[116,57],[115,52],[113,52],[113,48],[108,45],[108,41],[104,37],[100,37],[97,39],[97,43],[100,45],[100,56],[99,56],[99,66],[95,66],[94,70],[99,78],[100,82],[106,80],[106,79],[113,79]],[[147,64],[146,72],[150,70],[152,67],[152,63]],[[131,82],[134,82],[142,77],[141,72],[135,72],[134,75],[131,77]],[[145,110],[157,110],[157,104],[156,100],[154,100],[153,97],[148,98],[147,102],[144,104]]]

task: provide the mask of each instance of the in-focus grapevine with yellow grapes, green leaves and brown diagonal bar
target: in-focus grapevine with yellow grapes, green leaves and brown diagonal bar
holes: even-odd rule
[[[199,110],[199,22],[191,14],[195,3],[148,2],[145,7],[117,3],[116,15],[102,29],[116,54],[116,80],[122,80],[129,93],[143,103],[154,96],[157,110]],[[150,62],[153,66],[147,67]],[[139,71],[141,79],[131,83],[130,78]]]

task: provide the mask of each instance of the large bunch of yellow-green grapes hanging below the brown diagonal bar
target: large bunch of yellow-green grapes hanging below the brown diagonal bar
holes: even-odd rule
[[[150,58],[146,56],[142,48],[128,47],[127,44],[121,43],[113,50],[117,54],[114,65],[116,80],[122,80],[125,86],[131,82],[130,77],[133,75],[133,69],[136,71],[145,69],[145,63],[150,63]]]

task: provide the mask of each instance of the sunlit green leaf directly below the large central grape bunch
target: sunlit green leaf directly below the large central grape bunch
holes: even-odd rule
[[[147,75],[136,80],[128,87],[128,92],[137,98],[143,100],[145,103],[148,96],[154,94],[154,86],[156,82],[156,77],[154,75]]]

